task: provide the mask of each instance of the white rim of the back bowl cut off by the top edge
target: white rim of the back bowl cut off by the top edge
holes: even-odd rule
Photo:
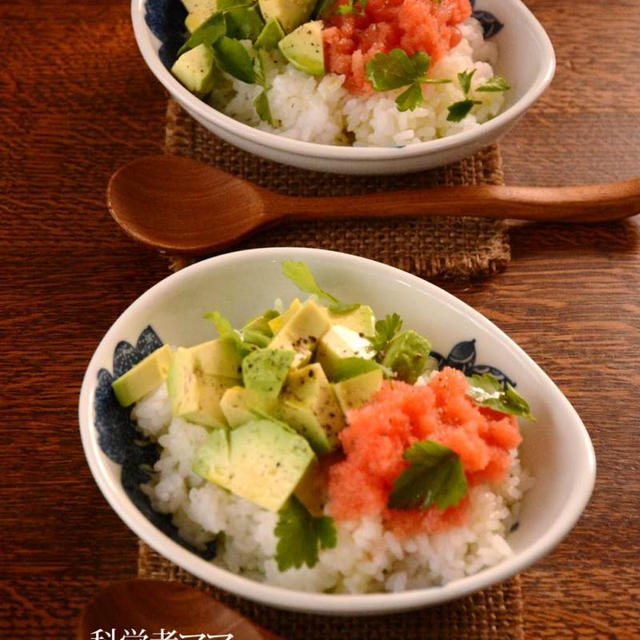
[[[551,83],[555,73],[555,53],[544,27],[528,7],[524,5],[522,0],[506,0],[506,2],[512,3],[512,5],[521,12],[519,16],[519,19],[523,20],[523,24],[520,25],[521,28],[526,28],[533,32],[542,51],[540,69],[534,82],[514,104],[473,129],[461,131],[444,138],[417,142],[401,147],[355,147],[305,142],[269,131],[263,131],[239,120],[235,120],[214,109],[186,89],[173,77],[164,64],[162,64],[157,51],[152,45],[151,39],[155,38],[155,36],[151,33],[144,19],[146,2],[147,0],[131,0],[131,19],[138,48],[156,79],[160,81],[165,89],[190,115],[197,119],[202,119],[212,126],[220,127],[231,136],[240,137],[255,145],[306,158],[321,157],[327,160],[354,161],[408,159],[429,155],[431,152],[444,152],[457,147],[464,147],[482,138],[491,140],[499,136],[503,128],[515,122],[529,109]]]

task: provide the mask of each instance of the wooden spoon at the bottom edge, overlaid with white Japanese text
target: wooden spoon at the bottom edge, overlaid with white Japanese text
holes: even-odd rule
[[[88,640],[98,629],[104,632],[101,638],[121,638],[125,630],[135,629],[150,638],[164,630],[167,638],[210,634],[222,640],[232,634],[238,640],[283,640],[202,591],[161,580],[127,580],[98,592],[82,611],[76,637]]]

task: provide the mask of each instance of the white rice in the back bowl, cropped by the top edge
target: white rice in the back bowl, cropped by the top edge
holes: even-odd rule
[[[460,43],[434,65],[430,75],[453,80],[449,84],[424,85],[425,102],[413,111],[398,111],[395,98],[404,89],[354,95],[344,87],[344,76],[329,73],[314,77],[290,64],[275,64],[268,74],[272,126],[260,120],[253,101],[262,91],[257,84],[228,76],[231,92],[215,99],[214,106],[227,115],[265,131],[324,144],[354,146],[404,146],[449,136],[477,127],[501,109],[502,92],[476,92],[494,75],[497,59],[494,42],[485,41],[475,18],[459,25]],[[476,105],[460,122],[447,120],[447,107],[464,99],[457,74],[475,69],[470,97]],[[229,96],[232,96],[230,99]]]

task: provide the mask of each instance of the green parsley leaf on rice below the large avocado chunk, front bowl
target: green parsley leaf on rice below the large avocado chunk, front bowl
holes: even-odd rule
[[[303,564],[313,567],[319,550],[331,549],[338,541],[333,518],[313,517],[295,497],[280,509],[274,533],[278,538],[276,561],[280,571]]]

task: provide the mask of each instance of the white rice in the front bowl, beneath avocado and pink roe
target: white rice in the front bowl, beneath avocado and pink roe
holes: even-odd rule
[[[366,593],[440,585],[508,557],[506,540],[522,494],[531,483],[517,451],[503,482],[470,490],[467,523],[437,534],[398,537],[377,517],[336,522],[338,544],[320,552],[313,568],[280,572],[274,559],[278,515],[204,481],[191,462],[207,430],[171,418],[166,385],[141,400],[132,417],[157,438],[157,477],[144,487],[153,508],[173,514],[184,539],[203,546],[224,532],[216,564],[247,577],[302,591]]]

